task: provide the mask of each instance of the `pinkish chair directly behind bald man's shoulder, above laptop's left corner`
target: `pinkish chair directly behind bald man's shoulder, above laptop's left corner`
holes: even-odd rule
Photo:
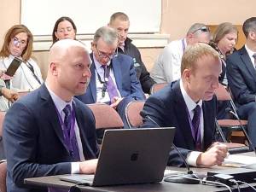
[[[105,103],[87,104],[96,119],[97,143],[102,143],[104,131],[107,129],[124,128],[124,123],[113,108]]]

